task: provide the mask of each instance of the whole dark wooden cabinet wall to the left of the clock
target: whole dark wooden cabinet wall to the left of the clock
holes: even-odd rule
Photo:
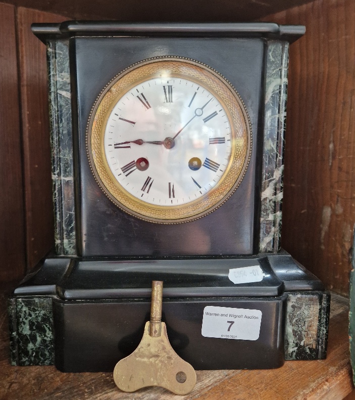
[[[0,281],[23,278],[54,242],[46,50],[30,26],[64,19],[0,3]]]

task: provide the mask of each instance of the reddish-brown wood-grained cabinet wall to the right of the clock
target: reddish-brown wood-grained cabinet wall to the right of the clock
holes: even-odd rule
[[[355,222],[355,2],[316,0],[265,21],[306,25],[290,46],[282,246],[348,295]]]

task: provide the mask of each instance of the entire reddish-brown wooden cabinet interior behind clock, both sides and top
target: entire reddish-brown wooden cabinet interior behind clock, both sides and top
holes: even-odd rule
[[[282,244],[329,289],[347,295],[355,221],[355,2],[304,3],[0,3],[0,281],[20,280],[53,245],[45,47],[30,24],[259,19],[307,27],[290,48]],[[280,11],[287,6],[295,7]]]

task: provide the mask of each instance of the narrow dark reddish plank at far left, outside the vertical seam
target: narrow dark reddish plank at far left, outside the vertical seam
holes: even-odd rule
[[[15,7],[0,3],[0,282],[25,275]]]

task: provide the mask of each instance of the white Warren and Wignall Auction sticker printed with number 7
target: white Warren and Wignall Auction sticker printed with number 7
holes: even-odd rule
[[[259,309],[208,305],[204,309],[201,334],[220,339],[257,340],[261,318]]]

